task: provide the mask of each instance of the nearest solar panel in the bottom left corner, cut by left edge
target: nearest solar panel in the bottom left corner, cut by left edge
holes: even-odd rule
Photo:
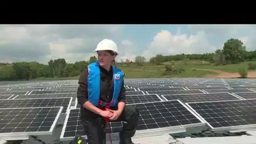
[[[0,136],[51,134],[63,107],[0,109]]]

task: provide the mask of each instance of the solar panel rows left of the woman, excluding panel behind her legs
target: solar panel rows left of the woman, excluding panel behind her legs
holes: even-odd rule
[[[13,140],[52,134],[59,117],[69,111],[76,99],[74,88],[58,88],[63,87],[54,82],[1,85],[0,137]]]

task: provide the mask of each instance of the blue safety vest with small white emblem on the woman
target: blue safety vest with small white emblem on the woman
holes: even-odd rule
[[[114,91],[112,97],[112,103],[110,107],[116,107],[118,103],[118,97],[120,96],[121,88],[123,87],[124,73],[121,69],[112,66],[113,71],[113,84]],[[88,101],[90,101],[94,106],[99,106],[99,96],[100,96],[100,69],[99,62],[93,62],[88,65]],[[106,103],[103,102],[102,106]]]

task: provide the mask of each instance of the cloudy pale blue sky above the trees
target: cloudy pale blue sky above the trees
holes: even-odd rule
[[[88,61],[103,39],[117,44],[116,61],[149,60],[157,54],[212,53],[230,38],[256,50],[256,25],[0,25],[0,62]]]

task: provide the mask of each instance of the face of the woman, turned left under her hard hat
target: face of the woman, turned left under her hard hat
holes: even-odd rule
[[[115,60],[115,56],[112,56],[107,51],[97,51],[98,53],[98,61],[99,65],[102,66],[110,66],[112,61]]]

